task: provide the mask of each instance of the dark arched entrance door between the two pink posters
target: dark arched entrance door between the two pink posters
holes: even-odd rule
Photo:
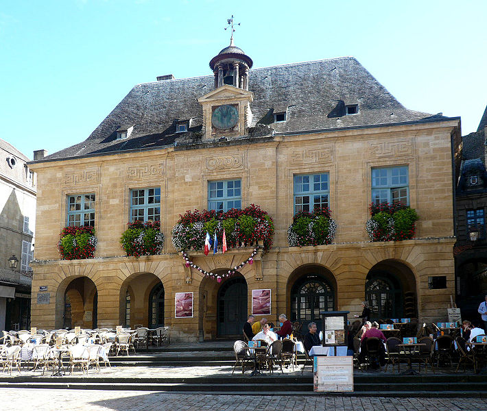
[[[218,291],[217,332],[219,336],[241,335],[247,321],[247,283],[229,279]]]

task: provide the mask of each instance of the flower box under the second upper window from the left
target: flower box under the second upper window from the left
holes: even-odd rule
[[[164,247],[164,234],[159,228],[159,221],[133,221],[120,238],[121,248],[127,256],[154,256],[160,254]]]

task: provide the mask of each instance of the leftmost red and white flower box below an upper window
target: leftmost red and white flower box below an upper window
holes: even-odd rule
[[[95,228],[64,227],[58,242],[59,255],[62,260],[80,260],[93,258],[97,246]]]

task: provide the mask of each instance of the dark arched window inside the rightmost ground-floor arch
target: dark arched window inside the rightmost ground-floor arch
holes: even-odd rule
[[[387,277],[371,275],[366,282],[366,301],[372,310],[371,318],[401,318],[403,316],[401,294],[399,282]]]

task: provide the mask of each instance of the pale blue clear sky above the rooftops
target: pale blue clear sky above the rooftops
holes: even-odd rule
[[[0,1],[0,138],[32,159],[88,138],[136,84],[211,75],[230,41],[254,68],[353,55],[406,108],[487,105],[487,1]]]

